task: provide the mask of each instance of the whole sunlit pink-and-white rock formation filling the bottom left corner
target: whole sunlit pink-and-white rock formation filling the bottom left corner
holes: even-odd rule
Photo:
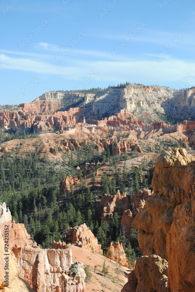
[[[0,212],[0,289],[5,292],[10,289],[15,292],[85,292],[85,271],[82,263],[72,263],[70,248],[41,249],[30,240],[24,225],[12,220],[5,203],[0,204]],[[4,249],[5,244],[9,248]],[[4,282],[6,263],[8,288]]]

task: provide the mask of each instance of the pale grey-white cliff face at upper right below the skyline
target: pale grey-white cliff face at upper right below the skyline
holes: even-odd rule
[[[147,116],[155,119],[157,109],[175,119],[187,119],[193,117],[195,88],[177,91],[161,86],[130,84],[126,87],[106,89],[86,100],[84,106],[87,113],[93,111],[94,114],[98,113],[98,109],[101,114],[107,112],[110,115],[127,109],[139,119]]]

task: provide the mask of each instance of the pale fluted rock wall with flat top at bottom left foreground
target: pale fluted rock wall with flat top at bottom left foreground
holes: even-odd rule
[[[36,292],[85,292],[82,262],[72,263],[71,248],[13,248],[18,274]]]

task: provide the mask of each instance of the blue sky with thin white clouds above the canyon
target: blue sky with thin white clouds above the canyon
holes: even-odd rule
[[[120,82],[195,85],[192,0],[1,0],[0,104]]]

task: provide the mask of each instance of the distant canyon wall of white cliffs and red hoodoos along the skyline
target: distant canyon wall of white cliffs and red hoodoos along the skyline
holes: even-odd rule
[[[63,133],[72,128],[92,131],[107,130],[107,127],[124,131],[151,131],[159,127],[167,132],[188,130],[190,127],[194,129],[194,122],[174,126],[153,122],[163,119],[163,114],[178,121],[189,118],[193,120],[194,96],[194,87],[176,91],[166,87],[136,84],[86,95],[77,92],[47,92],[33,102],[20,104],[18,110],[14,108],[2,111],[0,126],[13,132],[48,132],[58,129]],[[68,104],[75,105],[75,102],[77,107],[67,107]]]

